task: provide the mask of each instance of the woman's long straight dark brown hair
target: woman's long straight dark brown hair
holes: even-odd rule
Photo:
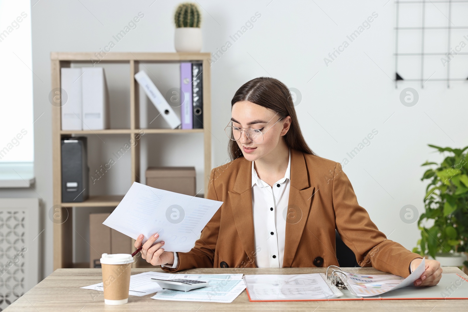
[[[235,103],[242,101],[249,101],[267,109],[272,109],[278,113],[281,119],[291,116],[291,126],[284,135],[286,145],[306,154],[316,155],[302,136],[291,92],[284,83],[271,77],[252,79],[244,83],[236,91],[231,101],[231,110]],[[244,156],[237,142],[233,140],[229,140],[227,152],[231,160]]]

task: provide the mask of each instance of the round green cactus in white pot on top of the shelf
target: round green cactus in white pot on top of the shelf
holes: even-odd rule
[[[200,52],[202,49],[201,15],[197,5],[181,3],[174,15],[176,23],[175,47],[177,52]]]

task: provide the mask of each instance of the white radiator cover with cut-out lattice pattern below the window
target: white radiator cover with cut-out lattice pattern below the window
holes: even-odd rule
[[[37,198],[0,198],[0,311],[39,283],[41,231]]]

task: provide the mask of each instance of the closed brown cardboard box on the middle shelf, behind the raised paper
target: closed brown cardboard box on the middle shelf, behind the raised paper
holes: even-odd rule
[[[146,169],[146,185],[195,196],[195,175],[195,167],[149,167]]]

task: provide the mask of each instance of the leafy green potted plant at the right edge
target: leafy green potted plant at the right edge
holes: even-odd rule
[[[421,181],[430,180],[424,196],[425,211],[417,225],[421,231],[413,252],[429,254],[442,266],[468,267],[468,149],[429,145],[439,152],[450,152],[442,163],[424,172]],[[424,221],[424,222],[423,222]],[[423,225],[424,224],[424,225]]]

